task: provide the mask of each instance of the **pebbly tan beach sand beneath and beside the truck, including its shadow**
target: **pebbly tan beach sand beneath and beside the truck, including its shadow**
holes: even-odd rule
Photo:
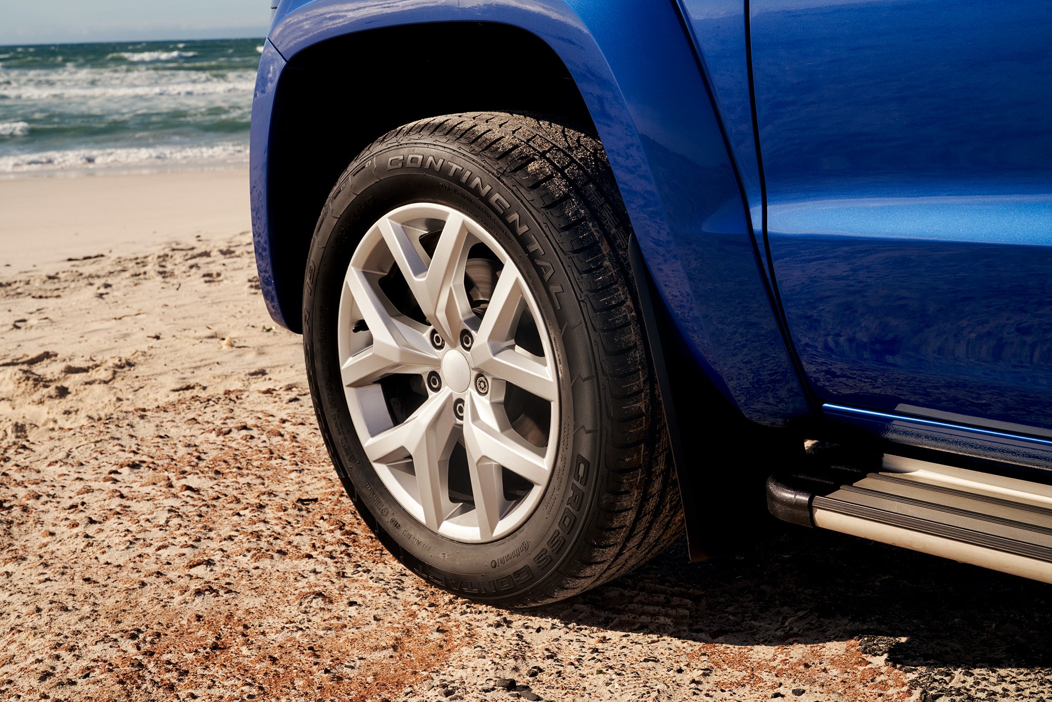
[[[102,185],[174,177],[0,182],[0,216],[61,188],[104,230]],[[529,611],[422,582],[333,475],[247,215],[213,197],[236,179],[196,178],[211,214],[123,216],[49,264],[67,233],[23,218],[29,272],[0,266],[0,698],[1052,698],[1049,586],[834,534],[679,544]]]

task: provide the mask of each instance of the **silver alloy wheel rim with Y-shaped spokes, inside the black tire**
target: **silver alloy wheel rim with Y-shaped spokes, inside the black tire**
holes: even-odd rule
[[[446,205],[387,213],[351,256],[337,333],[355,429],[394,499],[462,542],[523,524],[551,476],[560,383],[497,239]]]

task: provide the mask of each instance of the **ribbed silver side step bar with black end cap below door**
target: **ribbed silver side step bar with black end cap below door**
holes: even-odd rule
[[[898,456],[842,480],[771,476],[784,521],[1052,583],[1052,485]]]

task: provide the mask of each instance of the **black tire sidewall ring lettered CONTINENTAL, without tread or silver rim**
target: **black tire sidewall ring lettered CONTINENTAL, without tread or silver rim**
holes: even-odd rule
[[[554,227],[500,159],[463,147],[413,143],[366,152],[333,188],[319,220],[304,283],[304,350],[322,434],[360,514],[406,565],[446,589],[485,600],[527,602],[572,556],[599,500],[603,461],[598,440],[603,398],[587,319],[586,290],[567,270],[572,255],[547,233]],[[467,175],[465,175],[467,173]],[[427,529],[387,490],[366,458],[340,381],[337,310],[355,247],[386,213],[412,202],[458,209],[486,228],[523,275],[548,329],[560,378],[561,427],[552,475],[533,514],[511,534],[485,544]],[[548,599],[551,593],[545,593]],[[528,603],[528,602],[527,602]]]

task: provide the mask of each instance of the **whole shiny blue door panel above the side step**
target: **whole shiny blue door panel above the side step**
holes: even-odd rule
[[[751,3],[767,234],[824,402],[1052,427],[1052,5]]]

